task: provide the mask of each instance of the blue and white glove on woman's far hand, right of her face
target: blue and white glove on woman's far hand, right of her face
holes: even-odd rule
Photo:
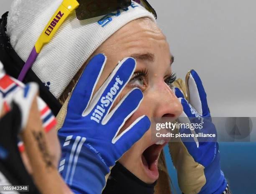
[[[180,134],[199,135],[198,137],[181,137],[181,140],[195,162],[204,167],[203,176],[205,176],[206,182],[200,189],[199,194],[221,194],[227,188],[227,182],[220,169],[217,131],[212,123],[202,81],[195,70],[191,70],[187,74],[186,86],[188,101],[179,88],[175,88],[175,95],[183,106],[179,122],[194,125],[200,124],[201,129],[199,127],[197,129],[186,129],[185,127],[179,129]],[[204,134],[215,134],[215,137],[204,137]]]

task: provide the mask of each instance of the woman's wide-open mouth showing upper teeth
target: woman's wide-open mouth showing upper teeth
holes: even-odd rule
[[[166,144],[167,142],[161,142],[161,144],[153,144],[145,149],[141,155],[144,169],[146,170],[148,177],[154,181],[156,181],[156,179],[159,177],[157,163],[161,150]]]

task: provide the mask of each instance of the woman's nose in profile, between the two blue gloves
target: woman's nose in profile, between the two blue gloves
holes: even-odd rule
[[[156,97],[154,117],[172,117],[172,120],[177,119],[182,113],[183,108],[173,90],[164,82],[158,85],[157,90],[155,92],[158,96]]]

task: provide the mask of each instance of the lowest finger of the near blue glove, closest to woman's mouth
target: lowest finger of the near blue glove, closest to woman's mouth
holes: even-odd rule
[[[136,119],[115,139],[115,146],[120,149],[120,156],[132,147],[150,128],[150,120],[143,115]]]

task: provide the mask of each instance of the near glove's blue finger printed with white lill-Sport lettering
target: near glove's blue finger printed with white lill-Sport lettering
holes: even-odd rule
[[[97,122],[102,122],[108,114],[120,92],[131,79],[136,67],[136,61],[125,58],[115,67],[110,77],[104,82],[92,99],[89,107],[84,111],[83,116],[91,114],[91,118]]]

